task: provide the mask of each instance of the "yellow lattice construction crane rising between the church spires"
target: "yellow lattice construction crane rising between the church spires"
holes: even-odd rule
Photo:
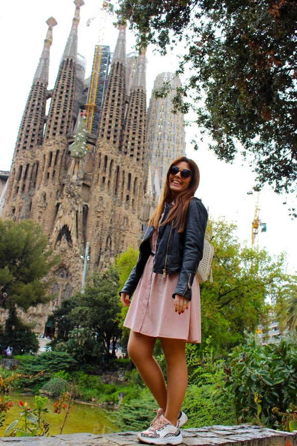
[[[93,70],[89,87],[88,104],[84,105],[87,111],[86,129],[88,133],[92,133],[94,113],[97,111],[96,95],[98,89],[98,80],[99,80],[100,65],[102,58],[105,23],[108,12],[111,12],[112,10],[113,10],[113,5],[110,3],[110,0],[103,0],[102,7],[100,8],[99,12],[93,18],[89,18],[87,21],[87,26],[90,26],[90,23],[94,20],[94,18],[98,14],[100,14],[99,36],[98,36],[98,43],[95,48]]]

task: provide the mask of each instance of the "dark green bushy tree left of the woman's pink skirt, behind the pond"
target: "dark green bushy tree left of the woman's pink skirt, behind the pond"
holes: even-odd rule
[[[58,333],[61,339],[66,341],[70,331],[88,329],[90,335],[102,346],[104,357],[108,361],[110,348],[114,356],[116,342],[121,336],[119,312],[118,275],[116,269],[110,266],[102,273],[96,271],[91,275],[84,292],[78,292],[68,299],[67,305],[54,311],[52,318],[56,326],[58,321],[62,321],[63,327]],[[71,336],[71,348],[75,337],[79,341],[76,335]],[[67,344],[67,348],[70,348],[69,345]]]

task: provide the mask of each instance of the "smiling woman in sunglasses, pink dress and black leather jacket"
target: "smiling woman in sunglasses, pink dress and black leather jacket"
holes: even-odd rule
[[[187,388],[185,344],[201,341],[196,271],[207,224],[206,209],[194,197],[198,185],[199,169],[192,159],[173,161],[136,266],[120,292],[122,304],[130,306],[124,322],[131,329],[128,354],[159,404],[150,428],[137,437],[144,443],[182,443],[180,427],[187,421],[180,410]],[[167,386],[153,357],[158,337]]]

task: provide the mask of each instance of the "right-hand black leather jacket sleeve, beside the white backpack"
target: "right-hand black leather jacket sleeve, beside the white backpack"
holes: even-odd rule
[[[192,284],[203,256],[204,235],[207,225],[207,211],[198,198],[189,202],[184,230],[182,267],[175,294],[192,299]]]

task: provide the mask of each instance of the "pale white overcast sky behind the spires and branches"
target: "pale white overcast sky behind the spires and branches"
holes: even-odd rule
[[[78,27],[78,52],[87,59],[86,76],[90,75],[94,46],[98,42],[99,16],[89,27],[87,20],[99,11],[101,2],[85,0],[81,7]],[[0,110],[1,158],[0,170],[9,170],[15,141],[24,112],[33,76],[38,64],[47,32],[46,20],[53,16],[58,25],[53,29],[53,44],[50,55],[49,88],[53,88],[63,48],[69,35],[75,6],[72,0],[10,0],[3,2],[0,11],[0,42],[2,43],[0,82],[2,106]],[[105,25],[103,44],[114,50],[118,31],[108,18]],[[128,31],[127,52],[134,51],[135,39]],[[182,48],[181,48],[182,52]],[[157,74],[177,68],[177,57],[173,54],[160,56],[149,48],[147,57],[147,105]],[[201,174],[197,196],[202,198],[209,214],[214,218],[225,216],[226,220],[238,224],[240,240],[251,244],[251,222],[253,220],[256,194],[251,190],[254,175],[240,156],[233,165],[216,159],[207,149],[207,141],[194,151],[191,140],[199,133],[192,125],[186,127],[186,155],[193,158]],[[297,254],[295,239],[297,222],[288,216],[282,203],[285,197],[275,195],[268,187],[260,195],[260,218],[267,224],[267,232],[260,233],[259,247],[266,247],[271,254],[282,251],[288,255],[288,272],[296,271]],[[292,198],[290,199],[292,202]]]

